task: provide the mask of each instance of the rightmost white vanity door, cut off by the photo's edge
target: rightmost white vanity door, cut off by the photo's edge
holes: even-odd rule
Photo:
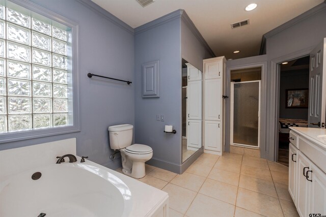
[[[326,213],[326,174],[315,164],[312,164],[312,172],[308,172],[309,179],[312,180],[310,190],[309,213]]]

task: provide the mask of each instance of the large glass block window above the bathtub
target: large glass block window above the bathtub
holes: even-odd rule
[[[72,125],[71,29],[26,11],[0,5],[0,134]]]

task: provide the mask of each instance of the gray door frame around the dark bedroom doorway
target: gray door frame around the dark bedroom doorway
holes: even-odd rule
[[[267,88],[267,117],[266,121],[266,146],[269,147],[269,159],[270,161],[277,161],[279,157],[279,133],[278,122],[280,114],[280,77],[281,68],[280,63],[284,61],[308,56],[315,46],[305,48],[287,55],[277,57],[270,60],[270,73],[267,74],[269,80],[269,88]]]

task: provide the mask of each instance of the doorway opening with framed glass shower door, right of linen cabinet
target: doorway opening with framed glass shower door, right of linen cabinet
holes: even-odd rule
[[[260,147],[261,67],[231,71],[230,150]]]

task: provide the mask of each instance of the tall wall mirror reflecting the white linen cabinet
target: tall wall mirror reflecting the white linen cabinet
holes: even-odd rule
[[[182,163],[202,147],[202,72],[182,59]]]

